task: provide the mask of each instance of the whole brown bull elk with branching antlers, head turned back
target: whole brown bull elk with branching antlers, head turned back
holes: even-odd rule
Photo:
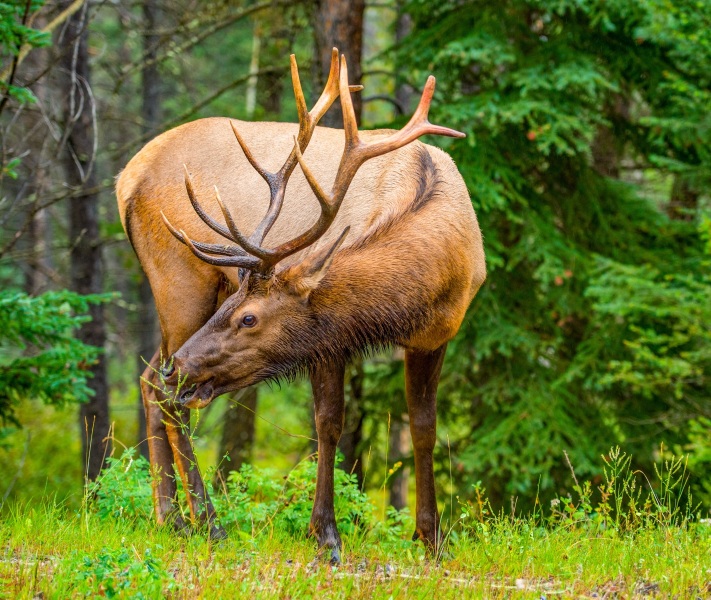
[[[417,138],[463,134],[429,123],[434,77],[402,130],[358,131],[350,93],[361,88],[349,86],[335,48],[310,111],[293,55],[291,75],[298,127],[198,120],[148,143],[118,178],[122,223],[162,335],[141,383],[157,521],[177,529],[203,523],[212,537],[225,535],[195,468],[189,409],[304,372],[318,434],[310,529],[337,562],[333,470],[345,367],[397,345],[405,349],[415,459],[413,539],[433,550],[437,385],[447,342],[486,269],[461,175],[445,152]],[[343,130],[317,127],[339,95]],[[279,167],[280,156],[287,159]],[[161,386],[179,392],[171,398]],[[189,491],[190,523],[177,507],[177,476]]]

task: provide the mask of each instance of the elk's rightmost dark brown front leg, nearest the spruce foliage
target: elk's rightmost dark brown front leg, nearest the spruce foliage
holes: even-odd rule
[[[417,498],[416,529],[412,539],[421,539],[430,553],[437,552],[441,540],[432,452],[436,441],[437,384],[445,348],[446,344],[434,352],[408,350],[405,353],[405,386],[415,453]]]

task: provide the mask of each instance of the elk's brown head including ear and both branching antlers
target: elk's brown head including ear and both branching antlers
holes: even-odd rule
[[[252,235],[247,237],[237,228],[217,188],[215,199],[224,216],[225,225],[215,221],[203,210],[196,198],[187,168],[185,185],[193,209],[210,228],[235,245],[193,241],[162,215],[173,236],[187,245],[199,259],[219,267],[239,267],[241,273],[239,290],[185,342],[163,371],[166,383],[170,385],[177,384],[181,375],[186,377],[179,401],[188,408],[202,408],[225,392],[265,379],[289,376],[316,361],[332,358],[333,348],[324,343],[326,332],[322,330],[322,315],[312,297],[326,278],[339,247],[346,239],[348,228],[330,247],[311,254],[301,263],[279,273],[275,273],[275,266],[279,261],[316,242],[328,230],[353,177],[365,161],[401,148],[424,134],[463,137],[463,134],[453,129],[432,125],[427,120],[435,88],[432,76],[427,80],[419,106],[408,124],[388,137],[365,143],[358,136],[350,96],[351,91],[362,88],[348,85],[345,57],[341,56],[339,65],[338,52],[334,48],[328,82],[311,111],[306,108],[293,55],[291,73],[299,115],[299,132],[294,139],[293,150],[279,171],[270,173],[263,169],[234,124],[231,124],[245,157],[270,189],[269,208]],[[327,193],[304,162],[302,152],[319,119],[339,94],[343,108],[345,147],[333,187]],[[297,163],[319,202],[321,213],[308,230],[294,239],[275,248],[264,248],[264,238],[279,216],[289,176]],[[337,320],[337,315],[331,315],[329,321],[334,319]]]

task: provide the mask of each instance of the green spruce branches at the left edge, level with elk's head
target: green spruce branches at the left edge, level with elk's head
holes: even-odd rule
[[[82,344],[75,331],[91,303],[109,296],[47,292],[30,297],[0,292],[0,419],[13,422],[23,399],[62,406],[89,397],[87,366],[99,348]]]

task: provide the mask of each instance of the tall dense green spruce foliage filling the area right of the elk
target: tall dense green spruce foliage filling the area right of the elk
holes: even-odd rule
[[[683,447],[711,411],[711,5],[408,7],[398,52],[468,134],[447,150],[489,267],[445,363],[455,474],[532,499],[563,450],[592,474],[611,443],[646,466]]]

